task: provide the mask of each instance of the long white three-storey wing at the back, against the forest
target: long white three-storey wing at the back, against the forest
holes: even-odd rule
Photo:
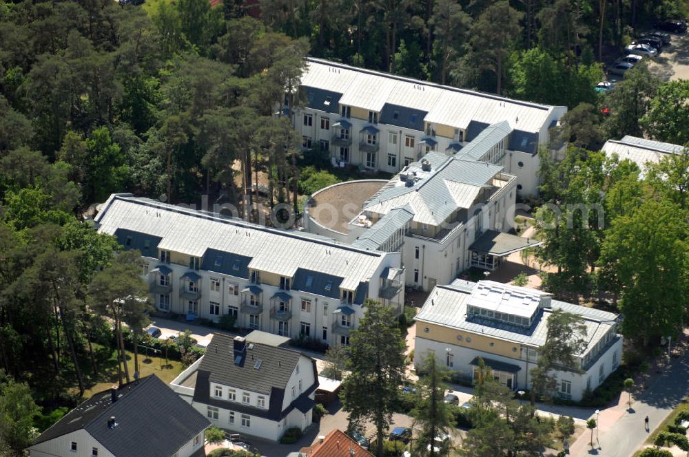
[[[491,135],[500,138],[482,160],[516,176],[524,196],[537,193],[537,149],[566,112],[321,59],[308,59],[301,89],[302,146],[329,151],[334,166],[396,173],[430,151],[462,152],[497,124]]]

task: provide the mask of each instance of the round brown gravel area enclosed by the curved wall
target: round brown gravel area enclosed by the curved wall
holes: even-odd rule
[[[340,233],[349,232],[349,221],[356,216],[366,200],[378,192],[387,181],[349,181],[311,198],[309,214],[316,222]]]

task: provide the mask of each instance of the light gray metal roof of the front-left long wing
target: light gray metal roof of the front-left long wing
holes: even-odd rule
[[[342,277],[347,290],[373,277],[388,255],[128,194],[111,195],[96,222],[101,233],[147,233],[161,238],[159,248],[186,255],[203,257],[212,249],[251,258],[246,268],[276,275],[294,277],[305,268]]]

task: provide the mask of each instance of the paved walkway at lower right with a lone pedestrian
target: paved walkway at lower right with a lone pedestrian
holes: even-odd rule
[[[633,396],[630,409],[627,396],[622,394],[617,406],[601,411],[593,449],[589,445],[590,432],[584,433],[570,447],[571,456],[630,457],[644,445],[650,434],[645,429],[644,418],[648,416],[654,429],[689,395],[689,351],[673,357],[669,368],[659,366],[655,370],[659,373],[649,380],[646,390]]]

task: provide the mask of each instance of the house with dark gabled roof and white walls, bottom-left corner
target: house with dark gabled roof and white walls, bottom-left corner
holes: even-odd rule
[[[31,457],[203,456],[210,422],[154,374],[94,394],[28,447]]]

